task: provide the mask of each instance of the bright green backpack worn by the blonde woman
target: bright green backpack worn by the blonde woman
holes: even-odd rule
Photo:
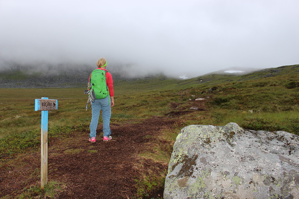
[[[101,69],[95,69],[90,74],[89,85],[91,86],[90,97],[92,100],[104,99],[109,95],[105,74],[106,71]]]

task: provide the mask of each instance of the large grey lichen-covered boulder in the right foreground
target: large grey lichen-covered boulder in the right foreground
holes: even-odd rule
[[[189,125],[177,135],[164,198],[299,198],[299,137]]]

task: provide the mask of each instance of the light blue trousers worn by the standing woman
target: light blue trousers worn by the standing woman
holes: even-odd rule
[[[90,134],[89,138],[96,137],[96,130],[98,127],[100,111],[102,109],[102,118],[103,118],[103,132],[104,136],[109,137],[111,135],[110,130],[110,117],[111,117],[111,103],[110,97],[104,99],[96,99],[91,103],[91,122],[90,122]]]

